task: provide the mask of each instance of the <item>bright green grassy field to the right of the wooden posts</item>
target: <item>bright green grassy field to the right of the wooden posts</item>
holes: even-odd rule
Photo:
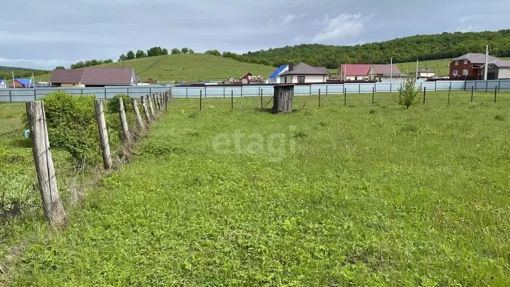
[[[174,99],[11,283],[508,285],[510,94],[427,95]]]

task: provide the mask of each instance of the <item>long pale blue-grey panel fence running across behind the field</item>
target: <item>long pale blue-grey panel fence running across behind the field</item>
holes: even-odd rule
[[[296,85],[295,95],[317,95],[346,93],[397,92],[400,83],[345,83],[345,84],[311,84]],[[437,81],[418,82],[416,86],[427,91],[466,90],[471,91],[510,91],[510,80],[491,81]],[[8,88],[0,89],[0,102],[29,102],[38,100],[46,94],[56,90],[66,91],[70,94],[93,94],[98,99],[111,99],[116,94],[127,94],[132,98],[140,98],[149,93],[164,92],[171,89],[172,96],[177,98],[198,98],[200,92],[203,98],[242,98],[256,97],[262,92],[264,95],[273,94],[271,85],[245,85],[245,86],[110,86],[105,88]]]

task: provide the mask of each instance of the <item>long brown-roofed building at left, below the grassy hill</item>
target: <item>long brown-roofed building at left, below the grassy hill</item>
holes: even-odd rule
[[[86,67],[55,69],[50,82],[57,87],[134,86],[137,79],[133,68]]]

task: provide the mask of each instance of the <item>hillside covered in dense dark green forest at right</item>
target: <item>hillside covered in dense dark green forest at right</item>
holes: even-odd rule
[[[301,44],[248,52],[243,55],[224,52],[223,56],[272,66],[294,61],[338,68],[341,63],[386,64],[390,63],[391,57],[395,63],[454,58],[466,53],[485,53],[487,44],[490,46],[491,55],[509,57],[510,30],[479,33],[445,32],[355,46]]]

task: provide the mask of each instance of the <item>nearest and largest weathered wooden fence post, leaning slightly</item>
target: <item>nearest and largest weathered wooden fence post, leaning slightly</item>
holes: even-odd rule
[[[28,102],[26,108],[44,217],[50,224],[59,226],[65,221],[65,212],[57,187],[52,151],[49,148],[44,103]]]

